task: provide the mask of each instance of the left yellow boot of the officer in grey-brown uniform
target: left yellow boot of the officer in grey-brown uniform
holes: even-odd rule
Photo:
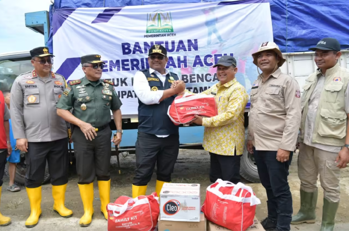
[[[41,215],[41,186],[37,188],[26,188],[30,202],[30,216],[25,221],[26,228],[32,228],[39,222]]]

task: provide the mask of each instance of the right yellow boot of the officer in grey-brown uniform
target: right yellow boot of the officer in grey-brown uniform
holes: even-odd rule
[[[64,206],[66,189],[67,184],[58,186],[52,185],[52,197],[54,200],[53,211],[63,218],[70,218],[73,215],[73,211]]]

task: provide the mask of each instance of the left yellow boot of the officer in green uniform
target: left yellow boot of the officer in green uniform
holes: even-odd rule
[[[80,219],[81,227],[88,227],[92,222],[93,216],[93,183],[79,185],[82,204],[84,204],[84,216]]]

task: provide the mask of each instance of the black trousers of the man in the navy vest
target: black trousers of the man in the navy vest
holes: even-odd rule
[[[152,179],[157,164],[157,180],[171,182],[179,152],[179,134],[158,137],[138,132],[136,141],[136,174],[133,185],[145,186]]]

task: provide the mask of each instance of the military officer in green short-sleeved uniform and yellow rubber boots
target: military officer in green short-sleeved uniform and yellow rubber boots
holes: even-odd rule
[[[100,55],[81,57],[85,77],[70,81],[57,104],[57,114],[72,123],[72,140],[76,157],[78,186],[84,216],[80,226],[87,227],[93,215],[93,181],[97,176],[101,212],[105,219],[110,202],[110,156],[112,131],[109,127],[112,110],[117,127],[117,134],[112,141],[115,145],[121,142],[122,105],[116,94],[113,83],[102,80],[104,62]],[[69,110],[73,109],[70,113]]]

